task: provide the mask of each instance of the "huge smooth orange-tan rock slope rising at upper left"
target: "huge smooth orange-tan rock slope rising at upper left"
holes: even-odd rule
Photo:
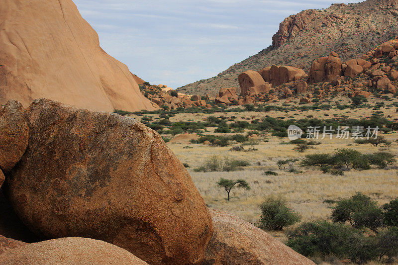
[[[154,110],[72,0],[2,0],[0,103],[47,97],[100,111]]]

